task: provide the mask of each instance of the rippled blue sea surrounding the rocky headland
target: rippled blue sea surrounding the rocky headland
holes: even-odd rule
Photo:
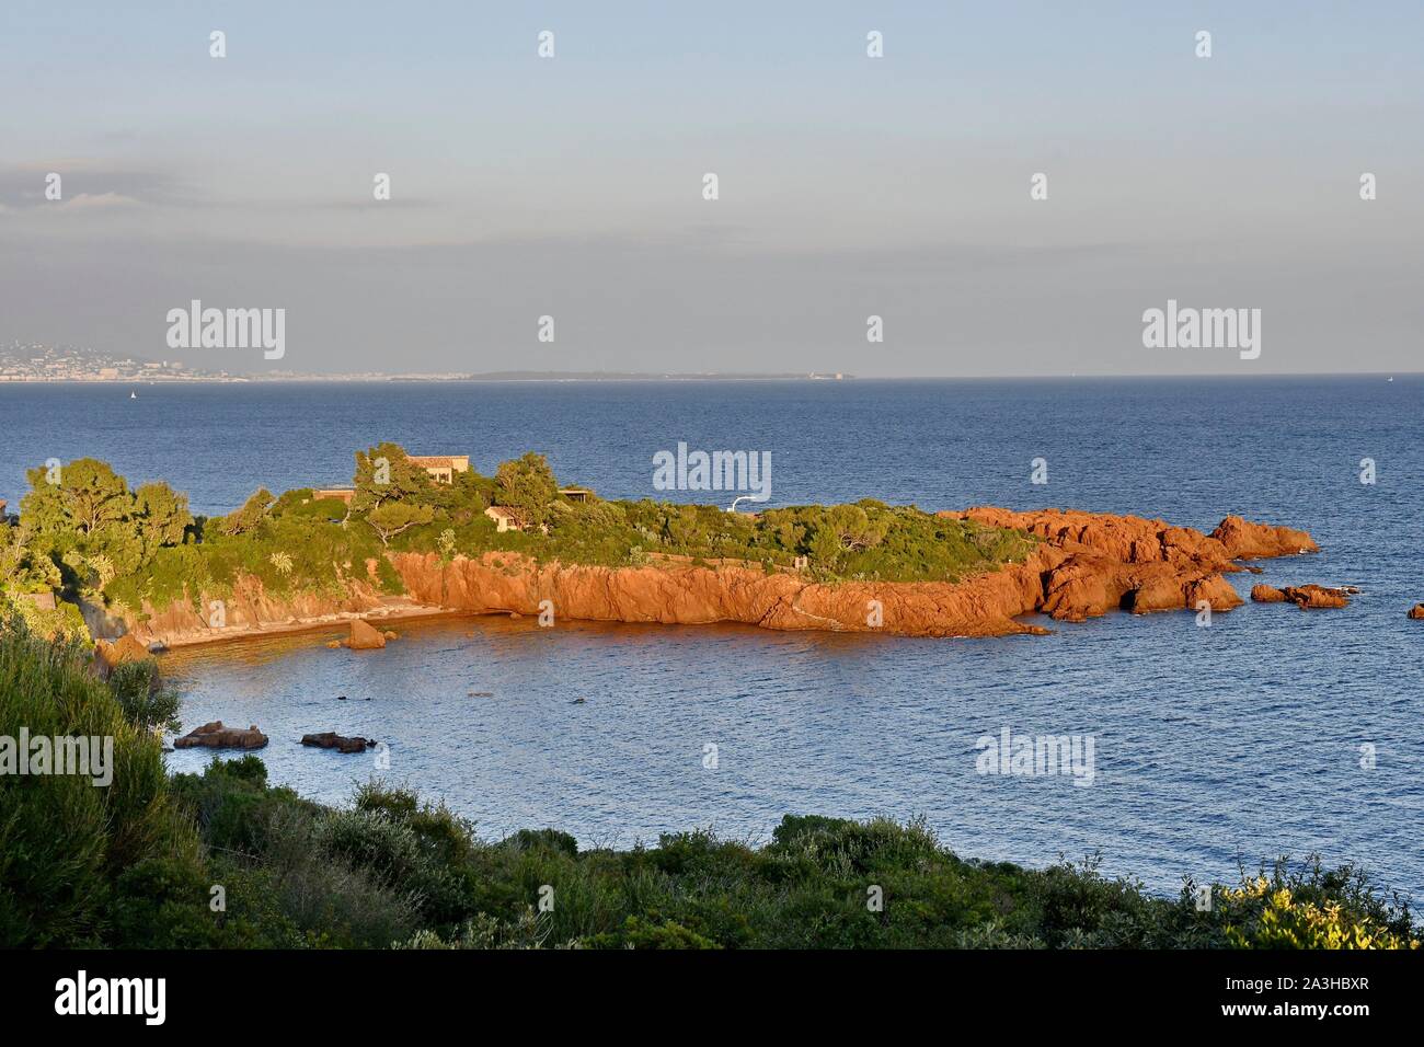
[[[404,627],[376,654],[306,634],[172,655],[185,721],[259,724],[273,778],[310,796],[340,801],[375,771],[370,755],[295,744],[335,729],[387,742],[392,778],[487,836],[555,825],[627,845],[715,826],[765,839],[785,812],[924,815],[964,855],[1042,865],[1101,850],[1109,872],[1161,890],[1320,852],[1424,897],[1424,623],[1404,618],[1424,600],[1418,376],[138,393],[0,386],[0,497],[17,503],[26,466],[94,454],[225,511],[258,484],[347,481],[352,450],[383,439],[470,453],[483,472],[534,447],[561,479],[642,497],[652,454],[686,440],[770,450],[778,504],[1289,523],[1324,553],[1267,561],[1265,581],[1364,590],[1339,613],[1247,605],[1212,628],[1111,615],[983,641],[461,618]],[[1034,457],[1047,487],[1028,483]],[[1374,486],[1358,481],[1363,457]],[[1245,595],[1255,578],[1235,581]],[[1096,783],[977,775],[975,739],[1002,726],[1095,735]]]

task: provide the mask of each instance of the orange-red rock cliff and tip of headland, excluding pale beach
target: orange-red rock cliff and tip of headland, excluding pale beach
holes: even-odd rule
[[[971,509],[941,513],[995,527],[1017,527],[1042,541],[1022,564],[961,583],[807,583],[739,566],[577,567],[535,564],[510,553],[443,564],[433,554],[394,554],[392,563],[422,603],[477,613],[538,614],[548,600],[555,617],[594,621],[702,624],[740,621],[782,630],[883,631],[896,635],[971,637],[1042,632],[1015,618],[1041,611],[1082,621],[1125,608],[1229,611],[1240,595],[1222,577],[1240,567],[1230,550],[1265,556],[1276,548],[1314,548],[1302,531],[1223,521],[1209,537],[1189,527],[1131,516],[1044,510]],[[1227,526],[1230,524],[1230,526]],[[1262,537],[1266,536],[1266,537]],[[1255,544],[1247,544],[1250,537]],[[1303,537],[1303,543],[1300,538]],[[880,625],[871,624],[879,603]]]

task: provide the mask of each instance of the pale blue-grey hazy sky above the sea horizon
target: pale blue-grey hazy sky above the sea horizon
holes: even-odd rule
[[[0,343],[234,372],[1421,370],[1421,36],[1417,0],[4,0]],[[285,309],[285,358],[169,348],[192,299]],[[1260,355],[1146,348],[1169,299],[1260,309]]]

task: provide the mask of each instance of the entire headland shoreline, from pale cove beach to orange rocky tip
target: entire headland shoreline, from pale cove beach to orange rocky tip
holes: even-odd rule
[[[212,628],[194,604],[145,607],[140,621],[114,623],[144,645],[179,647],[345,624],[434,614],[553,614],[611,623],[743,623],[773,630],[886,632],[906,637],[993,637],[1047,632],[1020,621],[1044,614],[1084,621],[1114,610],[1230,611],[1245,603],[1226,575],[1240,563],[1317,551],[1306,531],[1226,517],[1210,533],[1163,520],[1074,510],[978,507],[940,513],[1038,538],[1021,564],[958,583],[834,581],[772,573],[758,564],[592,567],[535,563],[511,553],[443,560],[393,553],[406,597],[366,581],[342,598],[283,601],[255,580],[226,600],[226,625]],[[367,564],[375,577],[375,564]],[[199,601],[205,605],[206,601]]]

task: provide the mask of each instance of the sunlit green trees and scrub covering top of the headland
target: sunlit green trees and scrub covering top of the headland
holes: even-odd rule
[[[103,462],[34,469],[20,524],[0,526],[0,608],[20,610],[47,635],[87,638],[68,611],[40,611],[16,597],[58,591],[130,621],[145,607],[225,598],[261,584],[273,597],[343,597],[356,583],[402,591],[386,554],[480,557],[518,553],[535,561],[641,567],[740,561],[834,583],[960,581],[1022,561],[1032,538],[948,520],[914,506],[866,499],[849,506],[726,513],[716,506],[571,501],[543,456],[504,462],[494,477],[456,473],[436,483],[394,443],[356,453],[355,493],[281,497],[258,489],[224,517],[194,517],[164,483],[130,490]],[[484,511],[504,506],[524,530],[500,533]]]

